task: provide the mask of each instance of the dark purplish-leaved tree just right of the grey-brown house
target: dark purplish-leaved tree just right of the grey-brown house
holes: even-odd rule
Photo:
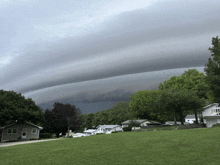
[[[45,127],[57,137],[61,132],[69,134],[70,129],[73,131],[80,129],[82,125],[80,115],[81,110],[75,105],[56,102],[53,109],[45,110]]]

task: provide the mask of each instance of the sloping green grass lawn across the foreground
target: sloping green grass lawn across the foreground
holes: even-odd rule
[[[219,165],[220,128],[123,132],[0,148],[0,164]]]

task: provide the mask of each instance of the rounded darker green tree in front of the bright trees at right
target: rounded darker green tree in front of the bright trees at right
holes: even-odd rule
[[[187,113],[194,109],[202,109],[204,105],[204,98],[200,99],[195,92],[179,88],[163,90],[154,104],[163,118],[173,116],[175,124],[177,120],[183,124]]]

